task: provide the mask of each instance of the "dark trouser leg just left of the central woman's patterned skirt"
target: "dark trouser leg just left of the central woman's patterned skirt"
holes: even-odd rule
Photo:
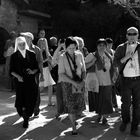
[[[64,103],[63,103],[63,90],[62,90],[61,82],[57,83],[56,101],[57,101],[57,113],[62,114],[64,112]]]

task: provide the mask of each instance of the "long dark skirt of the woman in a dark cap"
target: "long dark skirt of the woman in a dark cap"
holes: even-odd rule
[[[113,113],[112,86],[100,86],[98,95],[98,109],[100,115]]]

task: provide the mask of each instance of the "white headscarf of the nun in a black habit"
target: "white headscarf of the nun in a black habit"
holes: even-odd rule
[[[18,45],[20,43],[25,43],[25,49],[24,50],[20,50],[20,48],[18,47]],[[21,55],[24,58],[26,57],[26,50],[29,50],[29,46],[27,45],[25,37],[19,36],[19,37],[16,38],[16,40],[15,40],[15,52],[17,50],[19,50],[19,52],[21,53]]]

